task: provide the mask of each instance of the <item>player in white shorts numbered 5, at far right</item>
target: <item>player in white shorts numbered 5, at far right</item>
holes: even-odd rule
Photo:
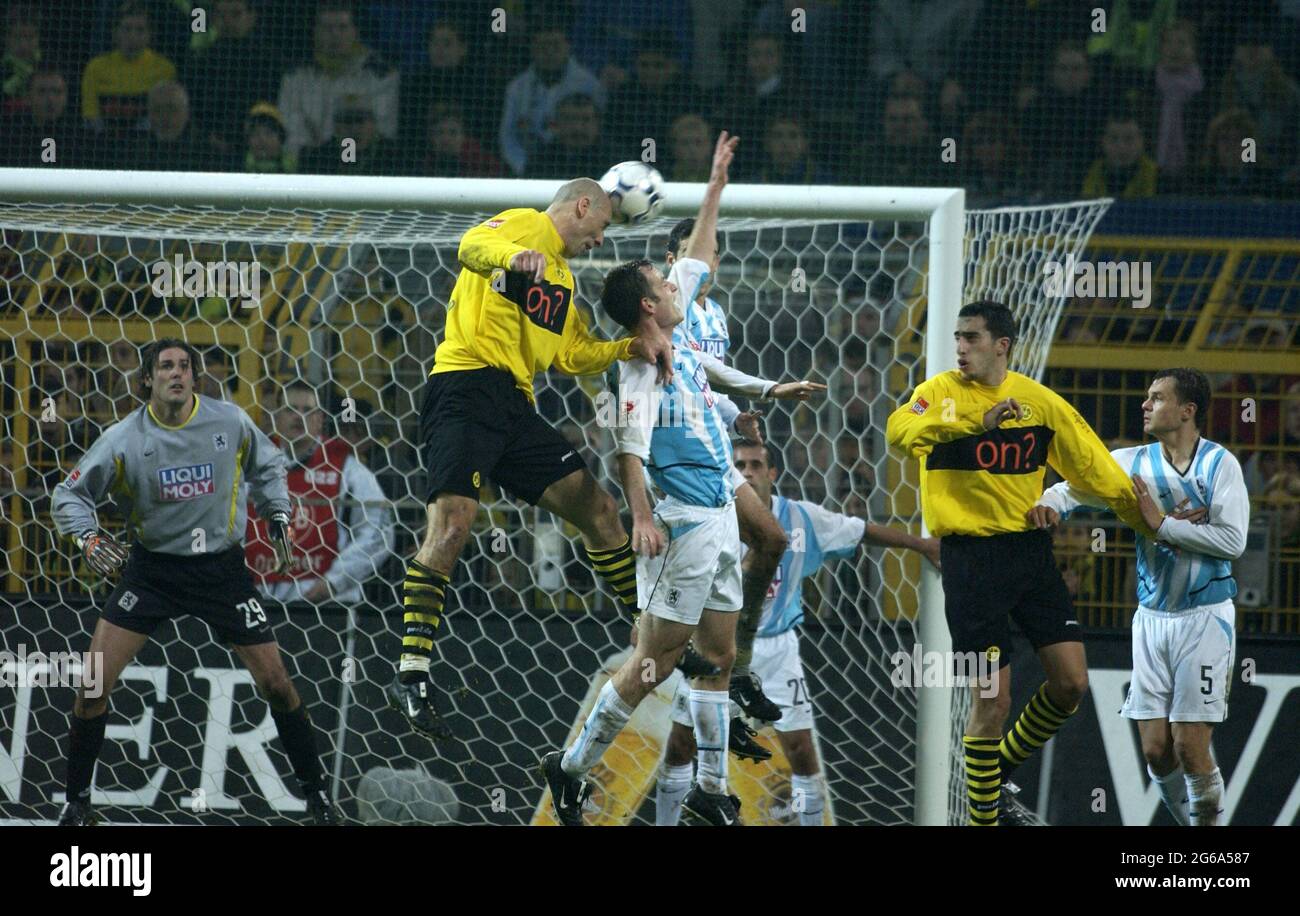
[[[1205,373],[1157,372],[1141,405],[1143,427],[1156,442],[1110,452],[1132,474],[1138,507],[1156,531],[1138,535],[1134,673],[1119,713],[1138,721],[1148,773],[1183,826],[1216,826],[1222,813],[1210,733],[1227,719],[1236,647],[1232,560],[1245,551],[1251,524],[1242,465],[1201,438],[1209,405]],[[1050,528],[1080,505],[1105,503],[1062,482],[1027,518]]]

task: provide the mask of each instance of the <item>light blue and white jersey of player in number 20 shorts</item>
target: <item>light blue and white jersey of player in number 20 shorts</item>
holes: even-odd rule
[[[853,556],[867,533],[863,518],[772,494],[772,515],[789,538],[758,620],[758,635],[779,637],[803,620],[803,579],[822,564]],[[745,547],[741,546],[744,557]]]

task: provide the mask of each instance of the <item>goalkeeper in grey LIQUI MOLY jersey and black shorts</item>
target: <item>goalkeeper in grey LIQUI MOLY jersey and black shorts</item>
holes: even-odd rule
[[[289,564],[285,456],[239,407],[200,398],[202,372],[190,344],[164,338],[140,356],[139,388],[148,398],[91,446],[55,487],[51,515],[73,535],[91,568],[122,579],[100,612],[90,651],[101,659],[104,689],[73,703],[68,741],[68,803],[58,822],[98,824],[91,807],[95,761],[104,743],[108,695],[122,669],[164,620],[191,613],[229,643],[270,704],[294,774],[318,825],[339,822],[325,791],[316,730],[285,663],[244,565],[248,490],[270,518],[281,568]],[[127,517],[130,552],[99,530],[95,508],[109,494]]]

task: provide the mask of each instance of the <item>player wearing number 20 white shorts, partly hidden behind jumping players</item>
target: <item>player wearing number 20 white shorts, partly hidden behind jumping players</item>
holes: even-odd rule
[[[785,550],[777,576],[762,607],[758,638],[754,641],[754,673],[771,686],[772,699],[781,711],[776,721],[776,738],[790,761],[792,807],[798,812],[800,826],[820,826],[826,800],[819,777],[820,763],[812,741],[812,702],[803,680],[800,642],[796,629],[803,620],[803,579],[815,576],[831,560],[852,557],[858,544],[880,544],[920,551],[939,565],[939,541],[918,538],[885,525],[872,525],[864,518],[828,512],[815,503],[785,499],[774,492],[777,465],[775,451],[753,439],[733,444],[734,466],[744,474],[762,503],[781,526],[786,541],[798,550]],[[753,555],[742,548],[744,563]],[[744,612],[741,612],[744,613]],[[690,761],[696,755],[692,735],[689,689],[682,681],[672,698],[672,730],[655,793],[655,824],[675,826],[682,799],[690,789]],[[732,722],[732,728],[736,724]]]

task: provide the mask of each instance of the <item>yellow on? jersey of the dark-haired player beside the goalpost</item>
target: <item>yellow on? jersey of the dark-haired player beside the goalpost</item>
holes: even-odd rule
[[[984,414],[1008,398],[1024,416],[985,430]],[[920,460],[922,513],[936,537],[1030,530],[1024,516],[1043,495],[1048,465],[1135,530],[1150,533],[1132,482],[1088,422],[1018,372],[996,387],[967,382],[956,369],[926,379],[889,416],[885,437]]]

